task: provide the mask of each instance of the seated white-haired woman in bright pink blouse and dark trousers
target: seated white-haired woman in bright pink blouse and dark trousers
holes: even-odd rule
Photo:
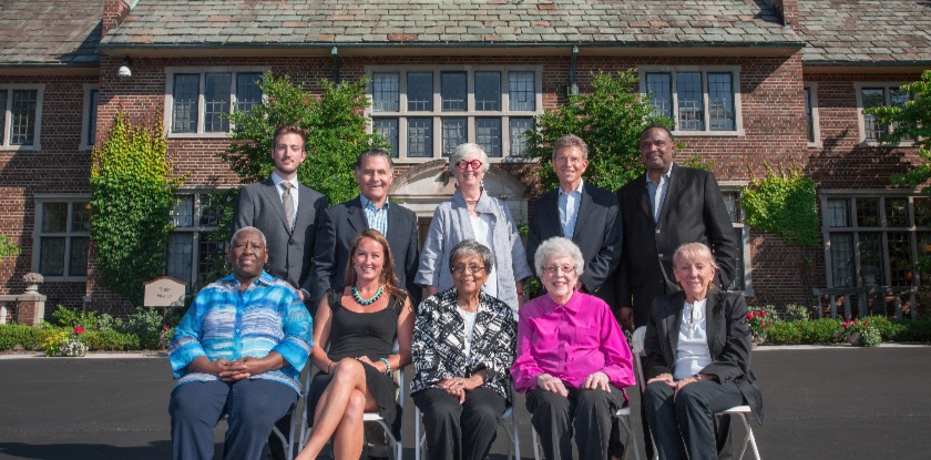
[[[520,310],[514,388],[526,393],[531,423],[550,460],[606,459],[611,415],[634,385],[631,349],[604,300],[577,290],[585,268],[571,241],[553,237],[534,254],[546,295]]]

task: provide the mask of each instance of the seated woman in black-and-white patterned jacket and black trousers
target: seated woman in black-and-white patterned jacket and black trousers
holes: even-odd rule
[[[423,413],[436,459],[484,459],[511,395],[516,324],[511,308],[482,292],[491,251],[466,239],[453,246],[453,287],[417,309],[411,398]]]

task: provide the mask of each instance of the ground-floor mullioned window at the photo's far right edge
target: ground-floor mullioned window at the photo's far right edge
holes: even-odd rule
[[[917,284],[931,256],[931,197],[902,193],[821,195],[828,287]]]

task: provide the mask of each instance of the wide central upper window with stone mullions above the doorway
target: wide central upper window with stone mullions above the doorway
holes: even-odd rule
[[[542,113],[536,67],[369,68],[372,132],[403,160],[449,156],[474,142],[491,159],[520,157]]]

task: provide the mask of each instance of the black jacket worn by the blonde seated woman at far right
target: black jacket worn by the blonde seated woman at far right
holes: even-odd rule
[[[647,380],[663,372],[673,372],[684,306],[685,293],[681,292],[653,301],[643,343]],[[722,384],[733,380],[761,423],[763,395],[757,387],[756,375],[750,370],[750,326],[747,324],[744,295],[712,290],[708,293],[706,308],[712,362],[700,374],[717,376]]]

